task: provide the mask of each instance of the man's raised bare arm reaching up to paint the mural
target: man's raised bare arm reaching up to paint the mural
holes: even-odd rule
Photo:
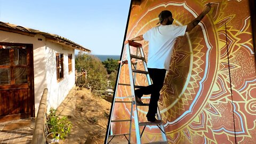
[[[198,23],[204,18],[204,16],[210,12],[211,5],[212,3],[206,4],[206,7],[204,7],[204,10],[202,11],[202,13],[200,13],[196,19],[188,23],[186,31],[190,31],[198,25]]]

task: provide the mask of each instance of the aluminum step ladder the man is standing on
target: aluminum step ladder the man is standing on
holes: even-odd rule
[[[161,130],[161,134],[162,134],[162,139],[163,141],[155,141],[155,142],[150,142],[150,143],[168,143],[167,139],[166,139],[166,135],[165,135],[165,131],[164,131],[164,126],[163,123],[152,123],[152,122],[139,122],[139,117],[138,117],[138,110],[137,107],[138,106],[149,106],[149,103],[137,103],[135,101],[135,95],[134,95],[134,89],[140,88],[141,86],[139,85],[135,85],[135,79],[136,79],[136,74],[140,73],[140,74],[145,74],[147,77],[147,81],[148,81],[148,85],[151,85],[151,79],[148,73],[148,68],[147,68],[147,63],[146,63],[146,59],[142,50],[142,45],[140,43],[136,43],[133,41],[125,41],[125,46],[126,46],[126,60],[124,60],[124,53],[125,50],[122,53],[122,59],[120,61],[121,66],[119,66],[119,73],[117,76],[117,84],[115,87],[115,93],[114,93],[114,98],[113,98],[113,102],[111,105],[111,110],[110,110],[110,119],[108,122],[108,127],[107,127],[107,132],[106,132],[106,138],[105,138],[105,143],[110,143],[111,140],[115,137],[115,136],[120,136],[120,135],[124,135],[124,137],[126,138],[126,140],[128,141],[128,143],[131,143],[131,131],[132,131],[132,117],[134,117],[134,124],[135,124],[135,132],[136,132],[136,139],[137,139],[137,143],[141,143],[141,137],[143,134],[143,131],[145,130],[146,126],[148,125],[157,125],[158,128]],[[130,49],[133,46],[137,49],[136,55],[131,54]],[[140,56],[138,55],[140,53]],[[133,61],[135,59],[135,61]],[[144,70],[137,70],[137,62],[140,60],[142,60],[143,62],[143,67],[145,68]],[[121,74],[121,69],[122,66],[127,64],[129,67],[129,77],[130,77],[130,84],[122,84],[119,83],[119,77]],[[133,68],[132,68],[133,66]],[[122,100],[117,100],[120,97],[117,97],[117,87],[119,85],[123,85],[123,86],[130,86],[131,89],[131,94],[125,98],[130,98],[131,101],[122,101]],[[122,97],[124,98],[124,97]],[[130,111],[130,119],[123,119],[123,120],[117,120],[114,121],[112,120],[113,118],[113,111],[115,108],[115,103],[131,103],[131,111]],[[133,110],[135,108],[135,110]],[[161,115],[160,115],[160,111],[157,108],[157,119],[161,119]],[[111,123],[116,123],[116,122],[130,122],[130,129],[129,132],[126,133],[122,133],[122,134],[113,134],[113,132],[110,130],[111,129]],[[144,126],[142,132],[140,132],[140,126]],[[128,138],[126,137],[128,136]],[[111,139],[110,139],[111,138]],[[109,140],[110,139],[110,140]]]

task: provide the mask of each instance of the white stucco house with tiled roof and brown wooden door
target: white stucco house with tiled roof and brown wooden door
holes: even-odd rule
[[[75,49],[64,37],[0,21],[0,122],[35,117],[44,88],[57,108],[75,85]]]

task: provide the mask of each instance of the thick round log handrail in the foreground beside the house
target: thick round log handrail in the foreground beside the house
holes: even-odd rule
[[[36,117],[36,123],[35,123],[31,144],[46,143],[45,130],[46,130],[46,112],[47,112],[46,111],[47,93],[48,93],[48,89],[45,88],[41,101],[39,103],[39,109]]]

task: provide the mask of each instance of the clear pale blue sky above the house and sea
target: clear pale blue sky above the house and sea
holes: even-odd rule
[[[130,3],[0,0],[0,21],[57,34],[90,49],[91,54],[120,55]]]

